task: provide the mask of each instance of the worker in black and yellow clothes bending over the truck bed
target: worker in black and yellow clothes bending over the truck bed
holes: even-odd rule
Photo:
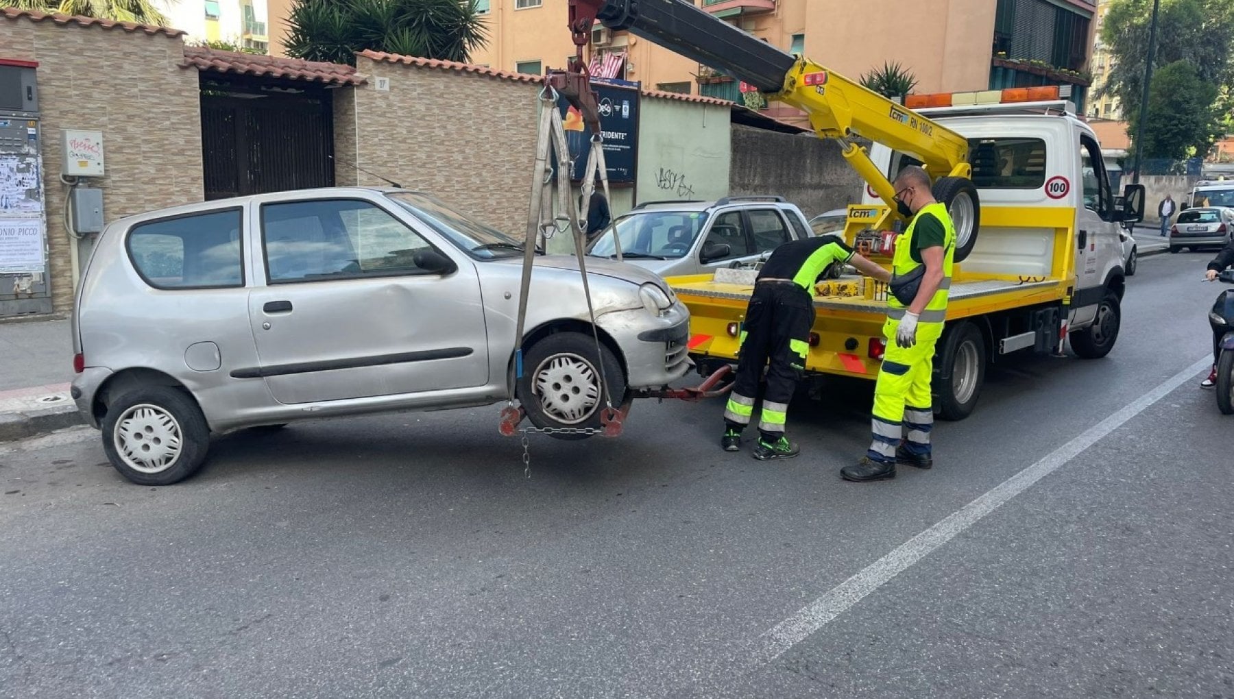
[[[766,369],[759,439],[754,457],[789,459],[800,449],[785,436],[789,401],[806,370],[810,329],[814,325],[811,287],[832,263],[848,263],[880,281],[891,272],[856,254],[837,235],[792,240],[777,247],[754,284],[740,332],[737,378],[724,408],[724,451],[742,448],[742,430],[750,423],[759,382]]]

